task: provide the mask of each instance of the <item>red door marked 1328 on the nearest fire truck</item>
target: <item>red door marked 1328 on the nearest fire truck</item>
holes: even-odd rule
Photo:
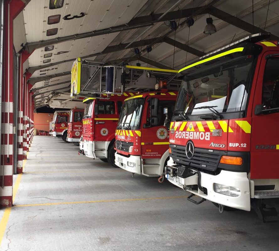
[[[268,57],[271,54],[274,53],[268,52],[262,57],[255,88],[251,127],[251,179],[279,178],[279,57]]]

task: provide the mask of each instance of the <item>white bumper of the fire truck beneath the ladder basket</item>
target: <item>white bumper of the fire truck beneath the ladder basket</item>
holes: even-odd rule
[[[79,143],[79,149],[83,150],[86,157],[104,159],[108,155],[110,141],[89,141],[84,140]]]

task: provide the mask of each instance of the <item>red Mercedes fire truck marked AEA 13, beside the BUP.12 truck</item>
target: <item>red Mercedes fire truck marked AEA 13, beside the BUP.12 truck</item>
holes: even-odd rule
[[[167,89],[126,98],[115,132],[115,165],[133,175],[163,174],[169,159],[164,108],[172,114],[176,98]]]

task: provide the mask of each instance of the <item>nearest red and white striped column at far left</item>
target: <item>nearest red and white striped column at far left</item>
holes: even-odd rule
[[[24,8],[24,5],[18,0],[4,3],[0,207],[11,207],[13,204],[13,154],[16,154],[13,153],[13,19]]]

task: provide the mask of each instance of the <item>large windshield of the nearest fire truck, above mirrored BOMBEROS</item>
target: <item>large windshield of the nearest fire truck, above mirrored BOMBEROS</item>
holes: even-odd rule
[[[215,114],[245,110],[254,58],[230,55],[193,67],[183,77],[174,116],[212,114],[212,108]]]

